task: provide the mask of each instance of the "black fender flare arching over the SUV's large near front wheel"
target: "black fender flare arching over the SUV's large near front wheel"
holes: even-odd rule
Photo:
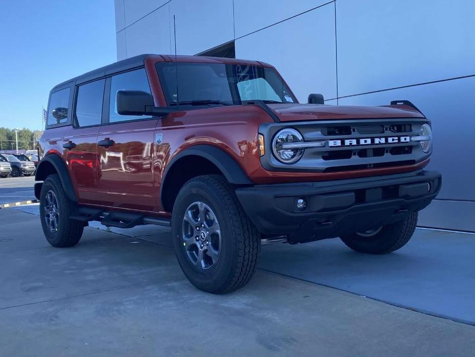
[[[191,148],[184,149],[177,154],[167,165],[160,185],[160,201],[163,204],[163,187],[165,186],[167,175],[173,165],[185,156],[201,156],[213,163],[226,177],[227,182],[233,185],[253,185],[249,177],[244,173],[236,160],[224,150],[213,145],[198,144]]]

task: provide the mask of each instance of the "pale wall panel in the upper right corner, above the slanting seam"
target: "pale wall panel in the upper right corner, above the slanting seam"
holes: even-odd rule
[[[475,74],[474,13],[472,0],[337,0],[339,96]]]

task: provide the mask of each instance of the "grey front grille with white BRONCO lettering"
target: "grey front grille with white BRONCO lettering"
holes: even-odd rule
[[[280,163],[272,154],[261,162],[271,170],[314,172],[411,165],[429,156],[422,151],[419,142],[410,140],[411,136],[419,135],[422,124],[427,121],[425,118],[397,118],[272,123],[261,127],[270,138],[280,129],[291,127],[302,134],[306,143],[325,141],[326,144],[305,148],[302,158],[292,165]],[[263,162],[265,159],[268,166]]]

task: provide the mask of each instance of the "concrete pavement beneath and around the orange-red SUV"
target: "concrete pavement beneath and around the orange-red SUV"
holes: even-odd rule
[[[263,246],[253,280],[217,296],[165,228],[94,225],[53,248],[37,211],[0,209],[0,355],[473,355],[474,235],[417,229],[386,256]]]

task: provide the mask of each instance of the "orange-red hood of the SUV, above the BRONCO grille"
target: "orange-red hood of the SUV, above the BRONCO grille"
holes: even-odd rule
[[[408,105],[356,106],[325,104],[268,104],[280,121],[424,118]]]

